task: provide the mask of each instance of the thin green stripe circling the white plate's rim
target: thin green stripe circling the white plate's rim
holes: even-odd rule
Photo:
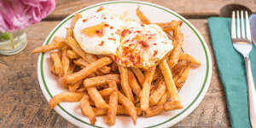
[[[91,7],[89,7],[89,8],[84,8],[84,9],[79,10],[78,12],[81,13],[81,12],[84,12],[85,10],[88,10],[88,9],[93,9],[93,8],[96,8],[96,7],[99,7],[99,6],[102,6],[102,5],[113,4],[113,3],[137,3],[137,4],[143,4],[143,5],[152,6],[152,7],[158,8],[158,9],[162,9],[162,10],[164,10],[164,11],[166,11],[166,12],[168,12],[168,13],[174,15],[174,16],[176,16],[178,19],[183,20],[184,23],[185,23],[186,25],[188,25],[188,26],[193,30],[193,32],[195,32],[195,35],[196,35],[197,38],[199,38],[199,40],[201,41],[201,45],[202,45],[202,47],[203,47],[203,49],[204,49],[204,52],[205,52],[205,55],[206,55],[206,60],[207,60],[207,72],[206,72],[206,77],[205,77],[205,79],[204,79],[204,82],[203,82],[203,84],[202,84],[202,86],[201,86],[200,92],[199,92],[198,95],[195,97],[195,99],[193,100],[193,102],[191,102],[187,108],[184,108],[182,112],[177,113],[177,115],[175,115],[175,116],[172,117],[171,119],[167,119],[166,121],[164,121],[164,122],[162,122],[162,123],[160,123],[160,124],[148,126],[148,128],[152,128],[152,127],[155,127],[155,126],[163,125],[163,124],[165,124],[165,123],[171,121],[172,119],[176,119],[178,116],[180,116],[181,114],[183,114],[184,112],[186,112],[186,111],[196,102],[196,100],[199,98],[199,96],[201,96],[201,93],[202,93],[202,91],[204,90],[204,88],[205,88],[205,86],[206,86],[206,84],[207,84],[207,79],[208,79],[208,75],[209,75],[209,58],[208,58],[207,48],[206,48],[205,44],[203,43],[201,37],[200,37],[199,34],[195,31],[195,29],[194,29],[192,26],[190,26],[189,23],[188,23],[187,21],[185,21],[180,15],[173,14],[173,13],[172,13],[171,11],[169,11],[168,9],[163,9],[163,8],[161,8],[161,7],[159,7],[159,6],[154,5],[154,4],[150,4],[150,3],[140,3],[140,2],[136,2],[136,1],[108,2],[108,3],[96,4],[95,6],[91,6]],[[55,27],[55,30],[50,34],[49,38],[47,39],[46,44],[49,44],[49,40],[53,37],[53,35],[55,34],[55,32],[56,32],[64,23],[66,23],[67,20],[70,20],[71,18],[73,18],[73,15],[69,15],[65,20],[61,21],[61,23],[60,23],[57,27]],[[46,45],[46,44],[45,44],[45,45]],[[47,84],[46,84],[46,82],[45,82],[45,79],[44,79],[43,64],[44,64],[44,53],[41,55],[41,61],[40,61],[41,77],[42,77],[42,79],[43,79],[43,83],[44,83],[44,88],[45,88],[45,90],[47,91],[47,93],[49,94],[49,96],[52,97],[51,93],[49,92],[48,86],[47,86]],[[86,124],[86,125],[90,125],[90,123],[85,122],[84,120],[75,117],[75,116],[74,116],[73,114],[71,114],[71,113],[68,113],[65,108],[61,107],[61,105],[58,105],[58,107],[61,108],[61,110],[63,110],[64,113],[67,113],[68,115],[70,115],[71,117],[73,117],[73,119],[77,119],[77,120],[79,120],[80,122],[82,122],[82,123],[84,123],[84,124]],[[90,126],[93,126],[93,127],[96,127],[96,128],[102,128],[101,126],[97,126],[97,125],[90,125]]]

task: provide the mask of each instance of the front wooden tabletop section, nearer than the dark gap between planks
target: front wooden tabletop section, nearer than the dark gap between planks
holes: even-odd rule
[[[211,50],[207,20],[190,20]],[[51,110],[38,84],[38,55],[32,49],[43,44],[60,21],[42,21],[26,29],[28,44],[17,55],[0,55],[0,127],[76,127]],[[213,56],[212,56],[213,59]],[[200,106],[175,127],[230,127],[224,91],[213,59],[212,82]]]

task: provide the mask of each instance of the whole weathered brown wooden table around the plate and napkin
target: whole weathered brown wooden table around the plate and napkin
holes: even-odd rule
[[[74,11],[106,0],[59,0],[55,11],[37,25],[26,29],[28,44],[17,55],[0,55],[0,127],[76,127],[51,110],[40,90],[37,77],[38,55],[32,49],[43,44],[49,32]],[[211,50],[206,18],[218,15],[230,3],[240,3],[256,12],[254,0],[147,0],[184,15],[201,32]],[[212,55],[212,82],[198,108],[174,127],[230,127],[224,90]]]

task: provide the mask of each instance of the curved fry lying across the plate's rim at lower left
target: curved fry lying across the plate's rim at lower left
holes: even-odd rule
[[[53,109],[60,102],[79,102],[83,96],[84,93],[62,92],[49,100],[49,107]]]

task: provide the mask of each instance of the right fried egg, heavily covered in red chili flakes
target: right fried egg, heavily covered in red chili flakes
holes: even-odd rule
[[[154,67],[172,49],[172,41],[154,24],[125,24],[116,62],[125,67]]]

